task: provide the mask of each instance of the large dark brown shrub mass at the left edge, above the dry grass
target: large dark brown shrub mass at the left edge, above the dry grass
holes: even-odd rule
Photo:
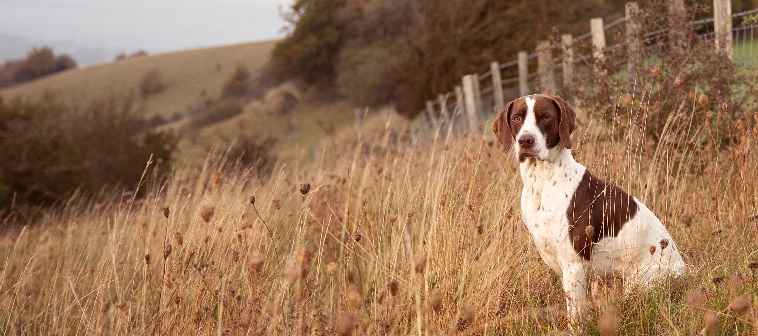
[[[167,166],[176,145],[171,132],[146,126],[132,97],[0,101],[0,209],[11,200],[49,204],[77,188],[132,187],[151,155]]]

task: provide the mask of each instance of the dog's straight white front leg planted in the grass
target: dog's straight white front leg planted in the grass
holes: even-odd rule
[[[568,320],[575,325],[581,324],[587,311],[587,269],[584,260],[561,265]]]

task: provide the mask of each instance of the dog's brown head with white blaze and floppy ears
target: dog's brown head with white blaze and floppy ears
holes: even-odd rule
[[[503,154],[515,140],[518,162],[527,157],[546,160],[548,150],[557,145],[571,148],[576,114],[559,96],[526,95],[511,101],[492,124]]]

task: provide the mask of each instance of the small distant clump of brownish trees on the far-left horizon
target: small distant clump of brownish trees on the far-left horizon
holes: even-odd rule
[[[47,76],[77,67],[77,61],[67,54],[57,57],[49,47],[33,48],[27,58],[5,61],[0,65],[0,87]]]

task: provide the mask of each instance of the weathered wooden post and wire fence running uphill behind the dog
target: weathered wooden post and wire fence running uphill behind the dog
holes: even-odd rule
[[[753,29],[758,27],[751,24],[734,28],[731,22],[736,17],[758,13],[758,9],[732,14],[729,0],[713,0],[712,18],[687,22],[682,15],[677,15],[684,13],[683,0],[671,0],[669,12],[672,14],[669,27],[645,34],[640,32],[641,24],[632,19],[635,17],[634,13],[639,11],[637,2],[627,2],[625,17],[607,24],[603,23],[602,17],[592,18],[589,33],[577,37],[573,37],[572,34],[562,34],[557,43],[549,40],[537,41],[535,51],[531,54],[527,51],[518,51],[518,58],[513,61],[503,64],[492,61],[487,72],[481,75],[472,73],[463,76],[461,84],[453,91],[440,93],[434,101],[426,101],[426,109],[411,122],[414,142],[428,138],[430,134],[437,137],[440,129],[447,129],[448,132],[453,129],[468,129],[469,133],[477,134],[481,132],[480,123],[493,113],[494,106],[503,108],[506,102],[523,95],[537,92],[553,93],[557,92],[559,86],[572,86],[577,76],[576,67],[579,61],[589,58],[596,61],[603,60],[606,53],[614,48],[627,48],[630,88],[636,88],[634,76],[641,58],[643,55],[655,56],[644,54],[642,48],[644,41],[640,36],[650,39],[667,33],[666,42],[659,43],[656,48],[659,48],[659,51],[675,51],[684,48],[683,45],[687,44],[683,41],[682,31],[688,29],[688,25],[693,27],[713,22],[713,31],[697,35],[697,38],[709,42],[716,51],[728,54],[734,61],[747,63],[758,60],[758,50],[753,51]],[[614,28],[622,29],[622,26],[619,26],[620,23],[625,23],[623,29],[627,37],[614,45],[606,46],[606,31]],[[578,42],[590,45],[592,52],[587,55],[576,54],[575,45]],[[735,48],[735,42],[741,43],[741,48]],[[756,42],[756,49],[758,49],[758,42]],[[553,51],[559,52],[561,55],[559,60],[556,61],[556,58],[553,58]],[[537,61],[536,68],[530,67],[529,64],[534,58]],[[502,71],[514,66],[517,67],[518,76],[503,79]],[[529,72],[530,68],[535,71]],[[486,80],[484,83],[491,82],[492,85],[481,89],[483,80]]]

